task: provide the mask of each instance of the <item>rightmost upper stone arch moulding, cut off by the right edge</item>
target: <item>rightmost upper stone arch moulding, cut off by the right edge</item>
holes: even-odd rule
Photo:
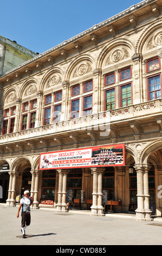
[[[139,36],[137,44],[135,45],[135,52],[142,53],[142,49],[144,45],[148,44],[148,41],[151,39],[151,35],[161,29],[162,20],[156,20],[150,24],[150,26],[146,27],[144,31]]]

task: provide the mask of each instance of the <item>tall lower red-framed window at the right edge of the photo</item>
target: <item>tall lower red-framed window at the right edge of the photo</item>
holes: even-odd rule
[[[147,78],[148,100],[159,99],[161,97],[161,76]]]

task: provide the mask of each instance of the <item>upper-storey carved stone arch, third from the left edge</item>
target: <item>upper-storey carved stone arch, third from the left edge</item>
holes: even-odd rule
[[[53,77],[56,76],[56,82],[52,82]],[[39,92],[43,92],[44,87],[49,83],[49,87],[57,86],[63,80],[63,71],[59,67],[53,67],[49,69],[41,79],[40,86],[38,87]]]

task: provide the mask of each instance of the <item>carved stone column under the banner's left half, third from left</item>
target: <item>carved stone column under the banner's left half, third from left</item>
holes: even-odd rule
[[[67,175],[69,170],[58,169],[59,173],[59,191],[58,191],[58,203],[56,204],[57,211],[67,212],[66,203],[66,188],[67,188]]]

